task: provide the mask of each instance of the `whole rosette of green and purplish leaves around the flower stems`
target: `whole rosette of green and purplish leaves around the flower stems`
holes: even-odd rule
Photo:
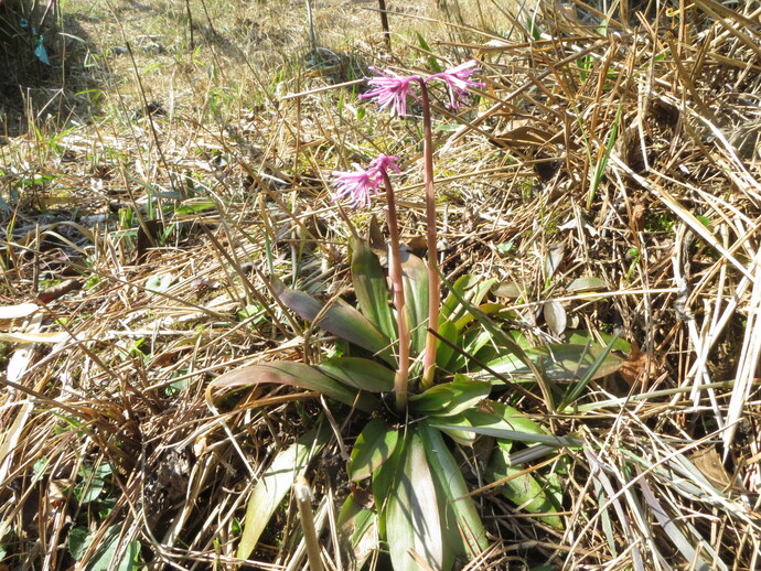
[[[243,367],[215,379],[210,399],[219,390],[274,384],[326,397],[336,403],[331,407],[334,417],[366,416],[346,466],[357,492],[346,498],[339,518],[346,547],[360,567],[384,542],[394,569],[410,571],[421,563],[451,569],[457,559],[471,560],[487,547],[470,474],[455,460],[457,446],[471,455],[476,448],[482,450],[483,474],[503,496],[525,511],[540,514],[544,524],[562,529],[558,515],[562,462],[546,471],[518,464],[522,459],[561,457],[562,450],[583,446],[582,440],[554,435],[494,398],[502,395],[501,400],[510,400],[528,392],[542,401],[530,390],[544,384],[543,391],[557,397],[551,407],[568,407],[579,396],[579,386],[620,366],[621,359],[610,352],[612,344],[596,347],[577,338],[530,347],[521,335],[500,327],[497,320],[507,310],[487,300],[494,281],[463,276],[450,286],[440,306],[435,383],[424,389],[420,358],[426,349],[429,272],[424,260],[405,252],[401,268],[412,366],[410,397],[405,413],[398,414],[386,398],[394,389],[399,354],[398,315],[386,271],[364,239],[353,244],[351,268],[356,309],[343,301],[324,305],[303,292],[275,287],[288,309],[346,342],[343,356],[317,365],[278,360]],[[569,388],[561,390],[561,384]],[[239,557],[251,553],[264,531],[262,521],[277,509],[283,489],[326,444],[325,424],[281,452],[255,487]],[[483,445],[474,448],[476,442],[486,443],[486,451]],[[368,487],[363,487],[365,482]],[[267,492],[271,489],[277,497]]]

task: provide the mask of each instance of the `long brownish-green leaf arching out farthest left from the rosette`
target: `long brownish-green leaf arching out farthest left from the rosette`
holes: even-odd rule
[[[358,392],[354,387],[342,385],[317,368],[294,360],[275,360],[231,370],[214,379],[208,385],[206,395],[210,398],[214,389],[249,387],[262,383],[314,390],[365,412],[372,412],[380,406],[378,399],[372,395]]]

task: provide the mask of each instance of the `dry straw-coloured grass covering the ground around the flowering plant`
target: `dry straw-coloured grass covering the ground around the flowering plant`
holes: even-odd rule
[[[61,90],[52,107],[30,96],[20,110],[39,114],[7,131],[36,130],[0,147],[2,304],[39,308],[0,314],[3,564],[68,569],[76,538],[92,536],[83,564],[110,543],[154,569],[236,565],[251,485],[325,405],[264,388],[256,398],[271,407],[251,410],[249,396],[217,410],[206,384],[330,347],[274,301],[269,277],[351,293],[333,169],[378,150],[401,157],[403,233],[424,234],[418,121],[331,87],[367,65],[427,66],[419,30],[450,63],[478,57],[487,83],[473,110],[437,111],[447,276],[500,278],[500,300],[537,344],[564,335],[548,325],[556,300],[569,330],[635,346],[575,409],[523,403],[588,444],[556,460],[565,531],[484,491],[494,543],[469,569],[761,565],[752,3],[617,9],[605,30],[549,2],[410,8],[392,19],[389,54],[377,14],[333,2],[315,9],[332,60],[311,68],[297,2],[289,18],[191,2],[192,36],[183,3],[73,4],[60,23],[81,28],[82,41],[63,40],[81,58],[66,80],[98,90]],[[61,112],[47,119],[51,108]],[[350,216],[358,228],[369,218]],[[350,569],[334,524],[339,451],[310,481],[323,559]],[[300,568],[299,542],[291,503],[251,568]]]

